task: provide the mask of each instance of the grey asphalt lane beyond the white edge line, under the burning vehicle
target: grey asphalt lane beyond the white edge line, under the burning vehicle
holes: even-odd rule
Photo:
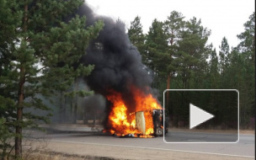
[[[168,133],[167,136],[172,136]],[[181,133],[177,133],[180,135]],[[185,133],[182,133],[185,134]],[[183,135],[184,136],[184,135]],[[112,147],[132,147],[145,148],[152,150],[177,151],[177,152],[202,152],[215,155],[229,155],[233,157],[255,157],[254,135],[240,134],[240,141],[232,144],[169,144],[163,141],[163,137],[154,138],[132,138],[132,137],[116,137],[104,133],[58,133],[48,134],[45,136],[51,141],[91,144]]]

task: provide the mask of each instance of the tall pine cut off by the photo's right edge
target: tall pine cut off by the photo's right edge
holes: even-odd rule
[[[249,122],[248,118],[255,117],[255,12],[249,16],[243,26],[244,32],[237,35],[241,42],[235,48],[239,54],[232,56],[232,61],[238,60],[240,67],[232,63],[232,68],[236,71],[233,75],[237,75],[237,80],[239,80],[241,124],[246,127]]]

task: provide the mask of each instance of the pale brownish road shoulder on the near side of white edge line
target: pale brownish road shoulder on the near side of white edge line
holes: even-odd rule
[[[33,147],[41,148],[40,155],[44,155],[47,158],[33,157],[30,154],[29,157],[32,159],[66,159],[66,160],[80,160],[80,159],[134,159],[134,160],[242,160],[242,159],[254,159],[253,157],[234,157],[226,155],[213,155],[205,153],[191,153],[191,152],[174,152],[174,151],[163,151],[148,148],[133,148],[133,147],[112,147],[102,145],[88,145],[88,144],[77,144],[77,143],[66,143],[47,141],[33,142]],[[28,158],[29,159],[29,158]]]

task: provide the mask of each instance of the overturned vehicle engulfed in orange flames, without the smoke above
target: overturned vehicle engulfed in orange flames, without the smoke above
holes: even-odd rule
[[[140,89],[133,88],[135,107],[129,108],[121,98],[121,93],[108,96],[113,106],[111,107],[107,130],[116,136],[152,137],[163,136],[163,109],[157,99],[150,93],[143,93]],[[130,110],[130,111],[129,111]]]

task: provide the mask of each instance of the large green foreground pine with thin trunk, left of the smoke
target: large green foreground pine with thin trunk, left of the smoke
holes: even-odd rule
[[[103,23],[86,27],[85,17],[79,16],[63,22],[82,3],[82,0],[1,1],[6,16],[0,17],[0,30],[5,33],[1,34],[0,53],[7,61],[7,64],[1,62],[1,70],[6,71],[1,72],[1,98],[5,104],[11,101],[16,108],[12,125],[17,158],[22,157],[22,129],[37,126],[36,120],[47,121],[47,117],[24,109],[48,110],[38,94],[49,97],[57,90],[69,88],[76,77],[88,75],[93,69],[93,66],[72,66],[85,54],[89,40],[97,37]]]

